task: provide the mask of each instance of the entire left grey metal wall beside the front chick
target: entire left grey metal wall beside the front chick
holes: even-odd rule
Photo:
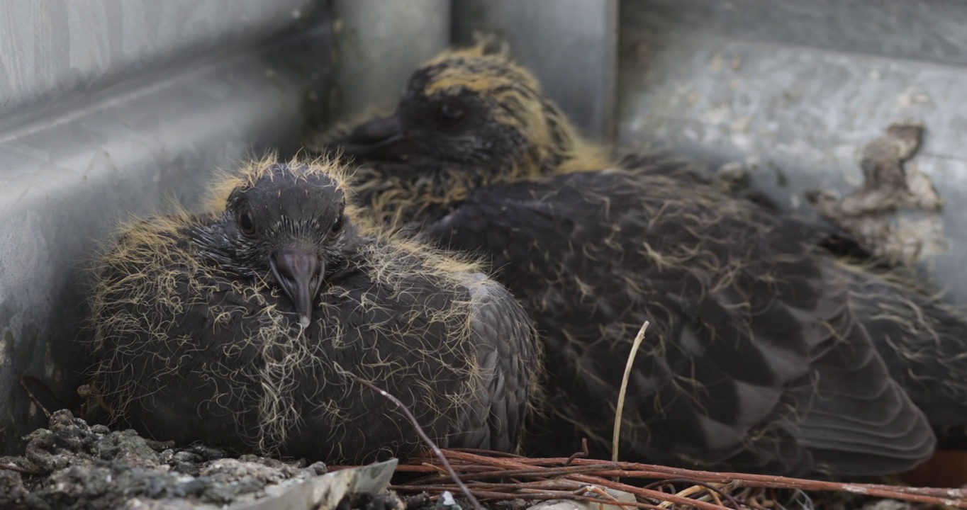
[[[111,226],[195,204],[216,167],[294,151],[325,82],[317,2],[155,4],[0,7],[0,104],[16,113],[0,126],[0,453],[45,422],[21,375],[51,390],[31,385],[45,406],[76,404],[84,269]]]

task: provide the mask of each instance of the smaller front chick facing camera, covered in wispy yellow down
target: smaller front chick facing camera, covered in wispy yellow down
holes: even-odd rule
[[[475,265],[381,234],[330,162],[250,164],[213,213],[123,228],[94,292],[112,416],[157,439],[336,464],[421,446],[513,451],[539,353]]]

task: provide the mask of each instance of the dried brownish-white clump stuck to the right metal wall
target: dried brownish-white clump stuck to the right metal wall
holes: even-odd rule
[[[939,216],[944,201],[929,176],[909,162],[922,138],[922,123],[894,122],[864,148],[860,166],[865,181],[859,189],[842,198],[831,189],[812,189],[806,200],[864,249],[891,264],[914,266],[924,254],[944,251]],[[927,217],[906,217],[911,212]]]

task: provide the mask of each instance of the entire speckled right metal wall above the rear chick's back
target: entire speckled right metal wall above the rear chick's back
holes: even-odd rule
[[[913,163],[946,201],[923,269],[967,301],[967,5],[947,0],[627,0],[618,138],[714,166],[744,161],[786,209],[847,193],[861,150],[899,118],[926,135]],[[913,220],[911,220],[913,221]]]

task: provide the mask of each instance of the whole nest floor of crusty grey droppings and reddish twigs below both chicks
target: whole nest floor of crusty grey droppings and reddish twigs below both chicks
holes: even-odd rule
[[[389,393],[371,383],[365,385],[404,407]],[[411,416],[411,421],[421,429],[416,418]],[[27,441],[23,457],[0,457],[0,508],[218,507],[258,499],[270,487],[292,485],[327,470],[349,468],[327,469],[322,463],[307,466],[305,461],[286,463],[254,455],[231,458],[202,445],[176,448],[143,439],[132,430],[111,432],[103,425],[88,426],[66,410],[53,412],[48,429],[35,431]],[[834,497],[826,497],[832,502],[823,505],[830,508],[842,506],[844,498],[851,499],[848,507],[859,507],[857,497],[867,499],[864,508],[869,510],[967,508],[967,490],[963,489],[839,483],[594,460],[585,458],[586,442],[584,451],[570,458],[440,449],[429,440],[426,445],[424,457],[396,467],[397,483],[390,488],[404,499],[393,493],[347,496],[337,510],[442,508],[447,505],[441,506],[440,495],[448,492],[466,495],[464,507],[480,508],[479,499],[489,508],[502,510],[550,500],[621,510],[818,507],[808,493],[832,494]],[[615,491],[633,499],[619,499]]]

